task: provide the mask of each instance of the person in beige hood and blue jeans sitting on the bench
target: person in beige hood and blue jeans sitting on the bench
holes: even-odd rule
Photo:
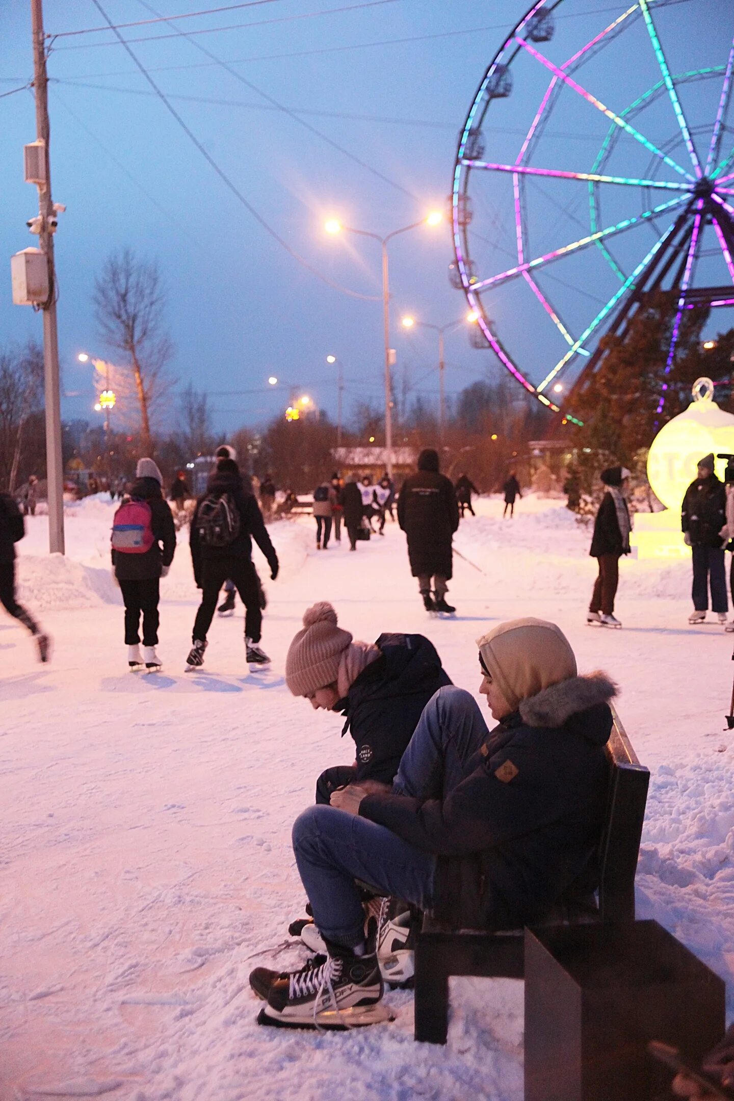
[[[578,676],[568,640],[543,620],[501,624],[479,647],[480,693],[499,720],[491,733],[470,693],[440,688],[392,789],[350,784],[296,819],[296,863],[328,955],[289,973],[252,973],[266,994],[261,1024],[385,1020],[358,880],[454,928],[516,928],[543,918],[579,877],[589,887],[616,687],[603,673]]]

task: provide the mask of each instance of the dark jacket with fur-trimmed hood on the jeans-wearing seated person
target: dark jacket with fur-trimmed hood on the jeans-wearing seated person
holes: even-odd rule
[[[471,775],[442,802],[361,802],[362,817],[438,857],[439,920],[516,928],[541,918],[572,884],[593,890],[614,695],[601,673],[562,680],[523,700],[490,733]]]

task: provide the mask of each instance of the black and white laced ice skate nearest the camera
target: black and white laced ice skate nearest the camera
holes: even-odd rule
[[[278,975],[270,988],[258,1024],[291,1028],[350,1028],[386,1021],[379,1004],[383,982],[374,942],[363,956],[327,941],[328,956]]]

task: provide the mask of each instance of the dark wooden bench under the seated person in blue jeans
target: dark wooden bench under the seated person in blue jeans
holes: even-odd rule
[[[635,871],[650,774],[640,765],[618,716],[606,745],[610,787],[599,848],[599,889],[588,900],[561,904],[546,925],[634,922]],[[454,930],[424,915],[415,952],[415,1038],[446,1044],[449,975],[523,979],[524,929]]]

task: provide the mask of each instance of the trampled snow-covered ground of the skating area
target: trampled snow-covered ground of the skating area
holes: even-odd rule
[[[686,562],[624,562],[624,630],[587,628],[589,531],[561,502],[524,499],[512,522],[501,512],[482,500],[461,524],[456,547],[481,573],[454,558],[459,612],[440,621],[423,611],[396,525],[358,554],[346,543],[317,554],[310,517],[273,524],[283,568],[265,580],[273,666],[259,675],[247,673],[239,607],[212,624],[205,671],[184,675],[197,604],[184,542],[162,582],[164,672],[150,677],[125,671],[110,504],[68,509],[66,559],[45,554],[45,517],[30,520],[21,592],[55,653],[37,665],[28,635],[0,619],[0,1101],[522,1098],[518,982],[452,980],[446,1048],[414,1045],[408,992],[387,995],[393,1024],[354,1034],[254,1023],[251,968],[303,958],[287,938],[304,902],[291,824],[320,770],[352,759],[340,722],[283,682],[287,644],[320,599],[358,639],[429,635],[475,693],[479,634],[516,615],[558,622],[582,669],[621,684],[620,713],[653,770],[638,914],[731,984],[733,639],[687,624]]]

